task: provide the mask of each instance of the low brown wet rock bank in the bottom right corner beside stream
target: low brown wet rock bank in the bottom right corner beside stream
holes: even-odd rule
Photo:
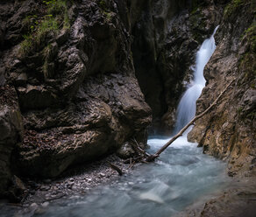
[[[256,211],[255,199],[255,179],[233,179],[231,186],[227,187],[223,193],[217,193],[211,199],[206,199],[206,203],[205,199],[199,200],[176,216],[252,217]]]

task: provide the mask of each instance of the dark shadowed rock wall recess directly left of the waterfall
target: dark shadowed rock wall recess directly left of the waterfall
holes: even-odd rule
[[[196,51],[221,19],[221,7],[203,1],[146,1],[132,26],[139,86],[153,109],[151,133],[170,134],[175,109],[191,81]]]

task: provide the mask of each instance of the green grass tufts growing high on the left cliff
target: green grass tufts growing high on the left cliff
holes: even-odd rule
[[[21,55],[41,49],[45,46],[46,37],[50,34],[56,35],[60,28],[70,27],[68,6],[65,0],[43,1],[43,6],[45,7],[44,14],[29,15],[23,20],[28,33],[24,35],[24,41],[20,46]]]

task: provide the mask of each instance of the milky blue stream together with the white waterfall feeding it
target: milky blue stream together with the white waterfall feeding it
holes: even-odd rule
[[[195,116],[196,100],[205,80],[203,67],[215,49],[214,34],[203,42],[196,56],[195,81],[181,99],[176,130]],[[154,153],[167,137],[150,137]],[[37,216],[58,217],[165,217],[174,216],[205,195],[225,186],[225,164],[207,155],[186,135],[178,138],[155,163],[137,166],[109,186],[99,186],[85,196],[58,200]]]

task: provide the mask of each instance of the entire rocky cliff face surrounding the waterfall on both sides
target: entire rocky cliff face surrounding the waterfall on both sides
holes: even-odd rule
[[[197,113],[234,81],[189,139],[228,159],[231,175],[253,175],[254,17],[249,0],[0,1],[0,194],[13,172],[54,177],[133,138],[146,144],[147,103],[151,132],[170,132],[217,25]]]

